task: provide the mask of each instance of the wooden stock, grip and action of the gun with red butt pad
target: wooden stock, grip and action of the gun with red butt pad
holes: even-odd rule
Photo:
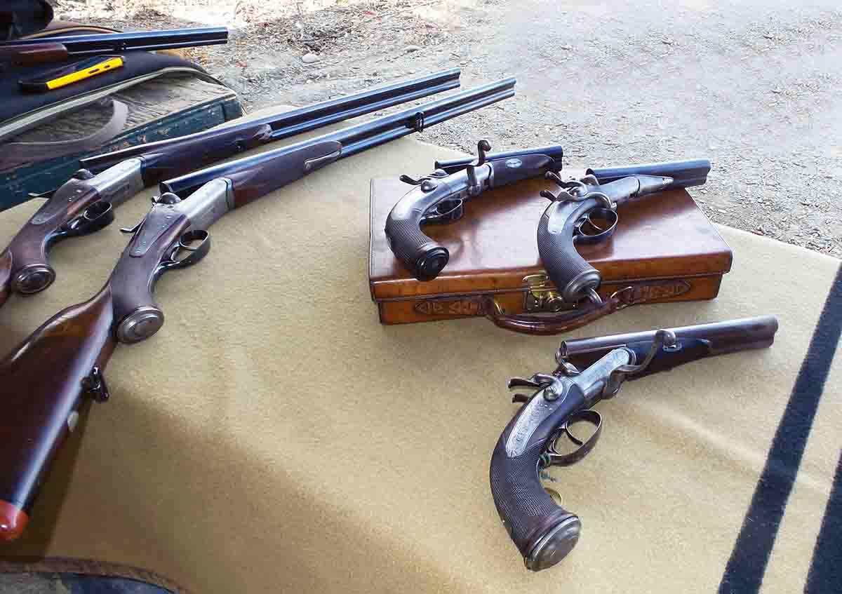
[[[23,532],[84,398],[108,399],[103,372],[117,342],[137,342],[163,324],[152,288],[164,270],[182,265],[170,257],[189,226],[167,207],[147,215],[98,294],[53,316],[0,361],[0,539]]]

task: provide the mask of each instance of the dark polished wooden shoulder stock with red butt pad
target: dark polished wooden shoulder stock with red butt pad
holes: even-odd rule
[[[101,374],[114,351],[113,323],[106,285],[40,326],[0,362],[0,538],[24,531],[45,471],[76,425],[83,385],[92,369]]]

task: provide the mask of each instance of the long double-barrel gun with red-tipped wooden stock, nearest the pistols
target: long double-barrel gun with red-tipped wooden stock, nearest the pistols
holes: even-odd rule
[[[274,151],[200,170],[161,184],[165,190],[141,223],[108,282],[92,299],[61,311],[0,359],[0,539],[18,538],[51,460],[75,427],[87,398],[107,400],[104,368],[119,342],[152,337],[163,310],[152,290],[165,272],[200,261],[207,229],[329,163],[412,134],[514,95],[514,79]]]

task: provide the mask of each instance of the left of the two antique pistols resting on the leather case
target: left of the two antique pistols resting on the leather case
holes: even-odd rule
[[[423,178],[402,175],[415,186],[397,201],[386,218],[386,238],[398,260],[418,280],[432,280],[450,259],[447,248],[424,235],[421,225],[448,223],[461,218],[465,201],[486,190],[562,168],[562,147],[487,154],[488,141],[477,144],[477,158],[466,162],[436,162],[436,170]],[[444,168],[438,168],[443,166]]]

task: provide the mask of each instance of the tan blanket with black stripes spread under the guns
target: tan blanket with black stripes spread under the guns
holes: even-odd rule
[[[559,338],[483,319],[381,326],[370,302],[370,178],[450,154],[392,142],[214,225],[209,256],[158,284],[166,324],[118,348],[111,400],[93,406],[29,533],[3,552],[136,565],[203,594],[744,592],[759,580],[791,594],[811,565],[814,586],[829,580],[822,560],[839,559],[827,544],[839,520],[820,533],[842,496],[830,497],[839,354],[823,397],[821,379],[842,307],[825,313],[793,390],[839,261],[727,228],[734,266],[717,300],[632,308],[573,336],[775,314],[775,345],[642,379],[600,404],[597,448],[552,470],[583,536],[561,565],[525,570],[488,464],[516,410],[506,380],[551,371]],[[728,191],[715,175],[710,184]],[[54,286],[0,309],[4,352],[99,289],[126,243],[117,227],[136,223],[152,194],[56,247]],[[37,206],[3,213],[0,237]]]

